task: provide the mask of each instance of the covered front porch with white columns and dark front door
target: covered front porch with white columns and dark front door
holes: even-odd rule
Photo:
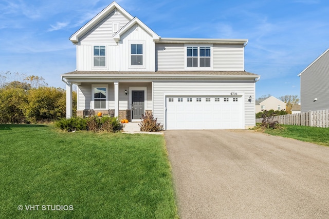
[[[140,79],[84,79],[62,75],[66,84],[66,117],[72,117],[72,85],[77,86],[77,116],[99,112],[114,114],[119,120],[140,122],[141,115],[152,112],[152,82]]]

